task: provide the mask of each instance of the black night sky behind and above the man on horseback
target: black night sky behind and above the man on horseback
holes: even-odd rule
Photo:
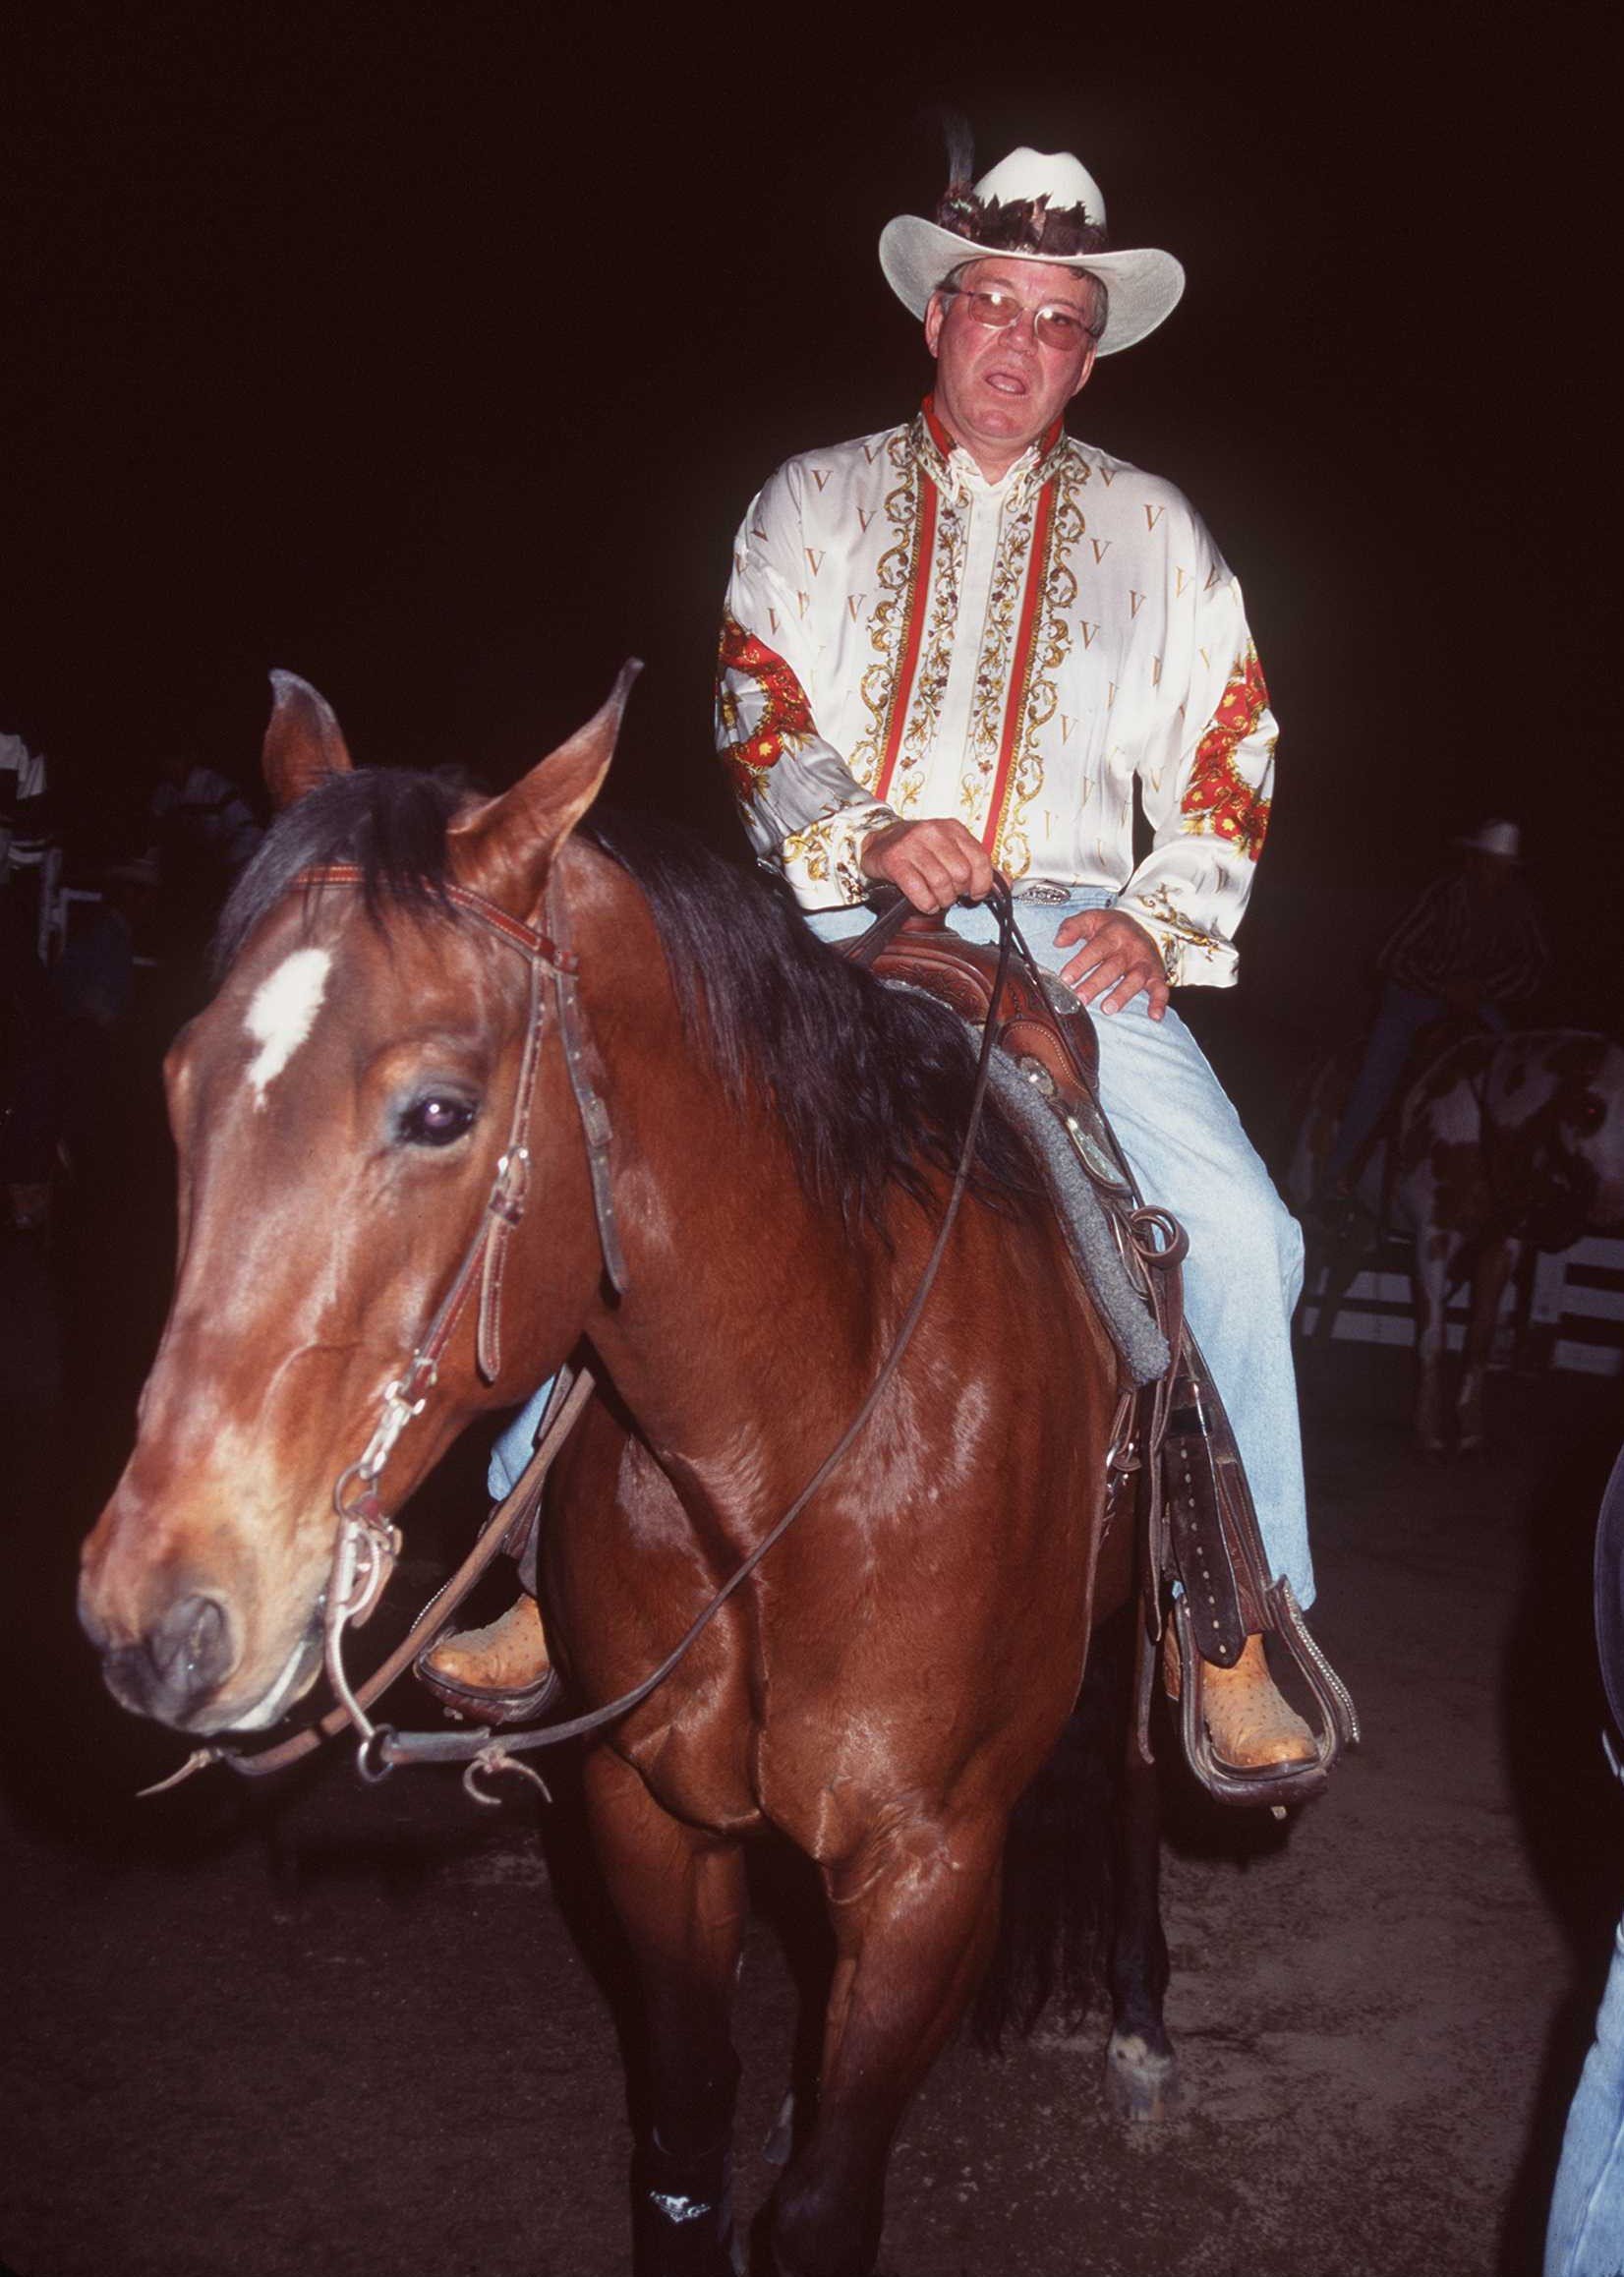
[[[0,724],[139,838],[171,749],[253,781],[269,665],[360,761],[501,783],[649,660],[613,795],[724,838],[731,533],[927,362],[875,239],[1075,148],[1189,269],[1073,426],[1182,483],[1282,720],[1228,1020],[1353,1018],[1485,815],[1613,1020],[1619,820],[1601,9],[1098,30],[991,11],[57,7],[7,41]]]

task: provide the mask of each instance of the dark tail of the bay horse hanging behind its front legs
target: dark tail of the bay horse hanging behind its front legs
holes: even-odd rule
[[[1107,1983],[1134,1626],[1130,1603],[1096,1630],[1077,1705],[1009,1819],[998,1949],[970,2011],[986,2047],[1048,2011],[1075,2031]]]

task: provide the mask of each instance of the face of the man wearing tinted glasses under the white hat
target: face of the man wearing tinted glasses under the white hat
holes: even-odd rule
[[[989,253],[959,285],[1011,294],[1023,314],[1004,330],[977,323],[966,294],[932,296],[925,346],[936,357],[936,410],[989,480],[998,480],[1027,444],[1059,417],[1093,371],[1093,342],[1048,348],[1032,326],[1039,307],[1093,319],[1093,285],[1057,262],[1018,262]]]

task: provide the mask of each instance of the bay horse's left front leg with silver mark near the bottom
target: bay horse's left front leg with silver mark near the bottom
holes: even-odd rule
[[[647,2124],[631,2165],[635,2277],[733,2277],[733,2095],[729,2031],[745,1931],[745,1869],[663,1810],[599,1749],[588,1762],[592,1835],[631,1940],[649,2040]]]

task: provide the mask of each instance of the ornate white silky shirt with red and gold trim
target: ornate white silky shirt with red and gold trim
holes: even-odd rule
[[[1241,590],[1171,483],[1059,424],[1000,483],[929,401],[779,467],[733,549],[717,745],[804,909],[863,899],[872,831],[957,815],[1027,893],[1112,888],[1171,981],[1235,979],[1276,747]]]

